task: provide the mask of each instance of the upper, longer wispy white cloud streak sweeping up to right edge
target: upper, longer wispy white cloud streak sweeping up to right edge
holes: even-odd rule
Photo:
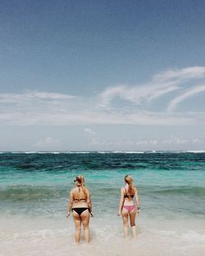
[[[153,79],[144,85],[118,85],[107,88],[101,97],[101,107],[108,106],[114,98],[121,98],[140,105],[162,98],[165,94],[185,89],[185,81],[205,78],[205,67],[194,66],[181,70],[165,71],[154,75]],[[183,86],[184,85],[184,86]]]

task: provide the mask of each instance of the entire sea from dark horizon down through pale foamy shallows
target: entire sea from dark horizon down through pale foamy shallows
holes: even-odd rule
[[[141,204],[135,240],[116,216],[127,174]],[[93,202],[89,245],[75,245],[66,218],[78,175]],[[205,152],[1,152],[0,205],[2,256],[204,255]]]

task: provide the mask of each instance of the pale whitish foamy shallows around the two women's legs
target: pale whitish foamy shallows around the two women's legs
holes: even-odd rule
[[[121,218],[98,219],[90,222],[89,245],[74,243],[75,227],[72,219],[43,219],[14,217],[1,221],[1,255],[58,255],[58,256],[144,256],[196,255],[205,252],[205,229],[199,222],[138,221],[136,240],[123,239]],[[187,228],[189,226],[189,229]],[[201,227],[200,227],[201,226]],[[191,229],[190,229],[191,228]]]

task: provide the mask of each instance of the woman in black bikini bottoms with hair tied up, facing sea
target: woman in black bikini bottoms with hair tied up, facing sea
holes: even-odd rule
[[[84,176],[77,176],[75,185],[71,190],[66,217],[69,217],[72,211],[76,230],[75,243],[80,242],[81,223],[84,227],[84,239],[89,243],[89,214],[93,216],[93,213],[89,190],[84,186]]]

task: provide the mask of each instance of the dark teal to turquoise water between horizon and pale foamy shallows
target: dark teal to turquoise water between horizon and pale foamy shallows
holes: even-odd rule
[[[62,216],[80,174],[99,216],[116,214],[124,176],[130,174],[145,216],[204,217],[205,153],[167,152],[1,153],[0,213]]]

